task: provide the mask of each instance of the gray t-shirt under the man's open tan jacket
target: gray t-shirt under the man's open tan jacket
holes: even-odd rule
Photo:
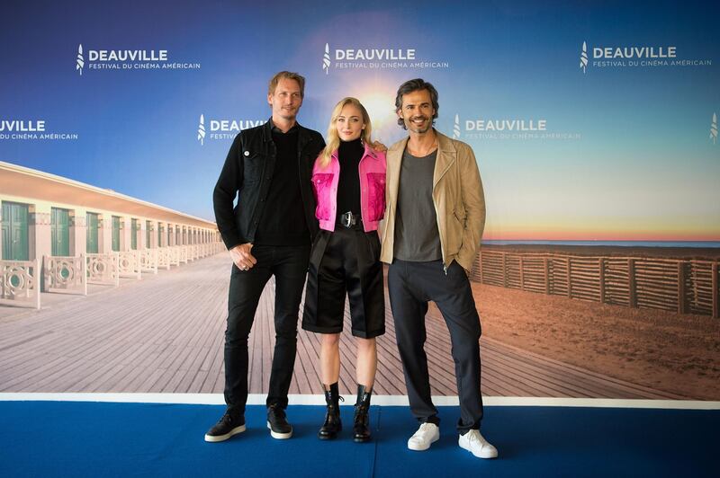
[[[425,157],[402,154],[394,256],[401,261],[443,258],[433,205],[433,173],[437,150]]]

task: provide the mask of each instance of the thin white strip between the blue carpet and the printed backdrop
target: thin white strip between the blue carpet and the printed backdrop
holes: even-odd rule
[[[289,395],[291,405],[324,405],[322,395]],[[653,408],[677,410],[720,410],[720,402],[696,400],[625,400],[608,398],[537,398],[486,396],[487,406],[512,407],[599,407],[599,408]],[[0,402],[114,402],[114,403],[187,403],[222,405],[222,394],[0,394]],[[250,394],[248,405],[265,404],[266,395]],[[354,397],[346,397],[346,406],[355,403]],[[457,406],[457,396],[434,396],[437,406]],[[408,406],[407,395],[376,395],[374,405]]]

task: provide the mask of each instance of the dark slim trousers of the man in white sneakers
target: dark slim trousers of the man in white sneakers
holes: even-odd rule
[[[480,429],[480,316],[470,281],[457,262],[443,270],[442,261],[410,262],[396,259],[388,270],[388,291],[395,338],[398,342],[410,412],[421,422],[439,423],[430,399],[428,357],[425,354],[425,314],[428,301],[437,304],[450,332],[455,380],[460,398],[457,429]]]

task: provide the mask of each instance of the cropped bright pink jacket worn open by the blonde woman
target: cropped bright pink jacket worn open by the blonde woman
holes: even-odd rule
[[[360,174],[360,215],[363,218],[365,232],[376,231],[385,213],[385,154],[365,145],[365,153],[358,167]],[[338,181],[340,162],[336,150],[329,164],[321,168],[320,157],[312,168],[312,190],[318,207],[315,217],[320,221],[320,229],[334,231],[338,217]],[[344,211],[343,211],[344,212]]]

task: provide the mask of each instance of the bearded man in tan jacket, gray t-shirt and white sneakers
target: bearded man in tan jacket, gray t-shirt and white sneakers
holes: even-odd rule
[[[481,458],[498,450],[480,433],[480,317],[468,273],[485,226],[485,199],[470,146],[433,128],[437,90],[422,79],[401,84],[398,124],[410,136],[387,152],[385,225],[381,261],[390,264],[388,289],[410,410],[420,426],[408,440],[427,450],[439,438],[430,398],[425,314],[437,304],[453,343],[461,417],[458,445]]]

